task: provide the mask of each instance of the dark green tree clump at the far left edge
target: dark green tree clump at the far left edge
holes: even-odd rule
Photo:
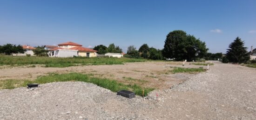
[[[16,46],[15,44],[5,44],[0,47],[0,52],[5,53],[6,55],[12,55],[13,53],[24,53],[25,50],[21,45]]]

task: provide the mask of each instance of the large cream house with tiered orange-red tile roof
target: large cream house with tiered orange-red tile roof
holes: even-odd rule
[[[61,43],[58,46],[49,51],[49,57],[97,57],[97,51],[82,47],[81,44],[74,42]]]

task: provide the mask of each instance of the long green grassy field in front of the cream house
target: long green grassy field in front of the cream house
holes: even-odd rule
[[[0,65],[44,64],[45,67],[69,67],[78,65],[123,64],[128,62],[145,62],[146,59],[115,57],[11,57],[0,56]]]

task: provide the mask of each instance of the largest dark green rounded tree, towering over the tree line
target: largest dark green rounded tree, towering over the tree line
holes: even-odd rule
[[[167,35],[162,55],[166,58],[175,58],[178,61],[184,59],[192,61],[195,58],[204,57],[207,51],[205,42],[177,30]]]

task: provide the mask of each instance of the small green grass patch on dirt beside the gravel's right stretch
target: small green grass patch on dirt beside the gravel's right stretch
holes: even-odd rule
[[[171,70],[172,73],[198,73],[198,72],[204,72],[205,69],[202,68],[180,68],[180,67],[175,67],[174,69]]]

